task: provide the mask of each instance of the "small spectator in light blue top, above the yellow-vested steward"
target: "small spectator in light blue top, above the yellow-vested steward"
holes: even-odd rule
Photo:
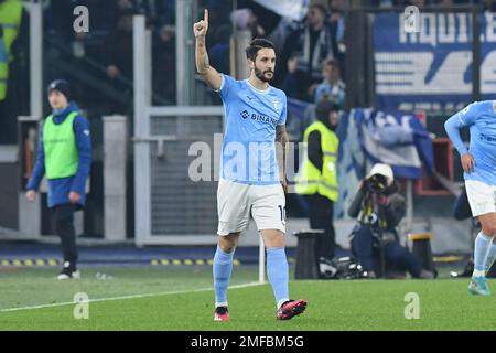
[[[314,103],[317,104],[325,97],[343,107],[345,104],[345,84],[341,79],[339,63],[334,58],[325,61],[322,74],[324,81],[315,89]]]

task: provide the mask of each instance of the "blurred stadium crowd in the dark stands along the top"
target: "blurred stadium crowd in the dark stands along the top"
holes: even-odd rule
[[[7,7],[7,3],[21,1],[2,0],[0,7]],[[144,14],[148,26],[153,32],[153,93],[160,98],[155,103],[175,104],[175,77],[172,74],[176,69],[175,0],[45,0],[43,3],[45,51],[73,63],[73,67],[86,65],[85,72],[91,73],[99,82],[127,97],[120,100],[109,99],[105,89],[88,89],[87,77],[68,77],[72,78],[73,90],[82,106],[99,114],[132,111],[129,103],[132,99],[129,98],[132,95],[133,14]],[[248,30],[254,38],[268,38],[276,45],[279,56],[274,86],[284,89],[291,98],[316,104],[321,98],[327,97],[343,106],[346,98],[345,29],[347,12],[352,6],[389,8],[414,4],[423,8],[473,3],[478,1],[312,0],[306,15],[300,22],[283,18],[254,0],[237,1],[236,9],[229,0],[198,0],[197,8],[208,8],[211,11],[211,38],[207,45],[212,64],[220,72],[230,72],[227,54],[233,26],[236,30]],[[482,1],[486,10],[495,10],[495,3],[492,0]],[[90,11],[88,33],[75,33],[73,30],[73,11],[77,6],[85,6]],[[8,94],[0,101],[3,121],[14,120],[15,115],[29,113],[25,105],[22,105],[29,96],[29,75],[25,74],[29,72],[29,17],[25,10],[19,22],[17,40],[12,47],[8,47],[12,66],[9,75],[11,79],[3,84],[11,88],[11,95]],[[51,61],[48,56],[47,62]],[[60,76],[58,65],[45,66],[47,81]],[[12,142],[14,128],[4,131],[0,143]]]

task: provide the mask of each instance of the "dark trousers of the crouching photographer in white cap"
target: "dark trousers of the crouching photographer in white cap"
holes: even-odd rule
[[[380,271],[380,249],[378,240],[374,237],[368,225],[362,225],[354,229],[352,252],[365,270]],[[391,240],[384,246],[386,265],[391,264],[406,269],[412,277],[419,277],[422,266],[417,258],[397,240]],[[386,266],[387,267],[387,266]]]

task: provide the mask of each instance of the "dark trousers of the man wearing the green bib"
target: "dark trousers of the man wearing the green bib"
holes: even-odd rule
[[[74,229],[75,210],[75,205],[71,204],[56,205],[51,210],[55,233],[61,238],[64,261],[69,261],[74,267],[77,261],[76,231]]]

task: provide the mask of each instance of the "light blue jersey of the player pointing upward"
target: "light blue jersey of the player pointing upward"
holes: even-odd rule
[[[280,182],[276,156],[276,127],[285,124],[285,94],[272,86],[255,88],[248,79],[222,74],[218,89],[225,109],[220,178],[271,185]]]

